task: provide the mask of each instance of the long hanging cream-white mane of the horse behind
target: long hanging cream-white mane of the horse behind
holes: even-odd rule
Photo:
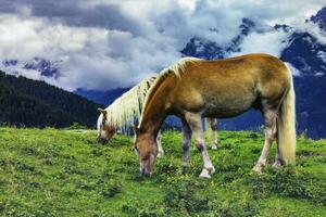
[[[155,77],[148,77],[141,80],[109,105],[105,108],[108,112],[108,124],[115,129],[126,131],[128,125],[136,119],[139,120],[145,98],[154,80]]]

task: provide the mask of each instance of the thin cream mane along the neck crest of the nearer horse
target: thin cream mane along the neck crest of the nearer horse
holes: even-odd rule
[[[197,58],[183,58],[179,61],[177,61],[176,63],[174,63],[173,65],[168,66],[167,68],[164,68],[163,71],[161,71],[161,73],[158,75],[155,81],[153,82],[153,85],[150,87],[150,89],[148,90],[148,93],[145,98],[145,101],[142,103],[142,112],[145,111],[145,107],[147,104],[149,104],[150,100],[152,99],[152,97],[154,95],[154,93],[156,92],[156,90],[159,89],[159,87],[161,86],[161,84],[165,80],[165,78],[170,75],[170,74],[175,74],[175,76],[177,78],[180,78],[183,74],[186,73],[186,66],[188,63],[197,63],[198,61],[200,61],[201,59],[197,59]],[[142,114],[140,116],[139,119],[139,126],[142,119]]]

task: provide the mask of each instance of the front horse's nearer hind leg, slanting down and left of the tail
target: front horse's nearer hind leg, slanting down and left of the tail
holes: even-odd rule
[[[264,111],[264,117],[265,117],[265,142],[264,148],[262,151],[262,154],[253,167],[253,170],[261,171],[262,166],[266,165],[267,163],[267,156],[269,153],[271,145],[273,143],[273,140],[276,138],[276,110],[266,110]]]

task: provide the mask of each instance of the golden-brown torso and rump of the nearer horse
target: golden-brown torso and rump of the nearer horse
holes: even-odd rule
[[[185,75],[171,82],[171,104],[203,111],[205,116],[230,117],[246,112],[260,98],[277,103],[289,86],[289,75],[279,59],[248,54],[188,64]]]

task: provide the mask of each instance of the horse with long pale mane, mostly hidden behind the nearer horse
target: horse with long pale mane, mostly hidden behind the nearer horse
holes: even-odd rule
[[[98,141],[101,143],[106,143],[109,140],[121,130],[126,133],[135,120],[140,119],[142,104],[146,94],[152,84],[155,80],[155,76],[147,77],[141,80],[134,88],[125,92],[122,97],[116,99],[112,104],[110,104],[105,110],[98,108],[100,115],[97,120],[98,128]],[[217,120],[210,119],[212,149],[217,149]],[[161,133],[156,137],[159,145],[159,155],[164,154],[164,150],[161,145]]]

